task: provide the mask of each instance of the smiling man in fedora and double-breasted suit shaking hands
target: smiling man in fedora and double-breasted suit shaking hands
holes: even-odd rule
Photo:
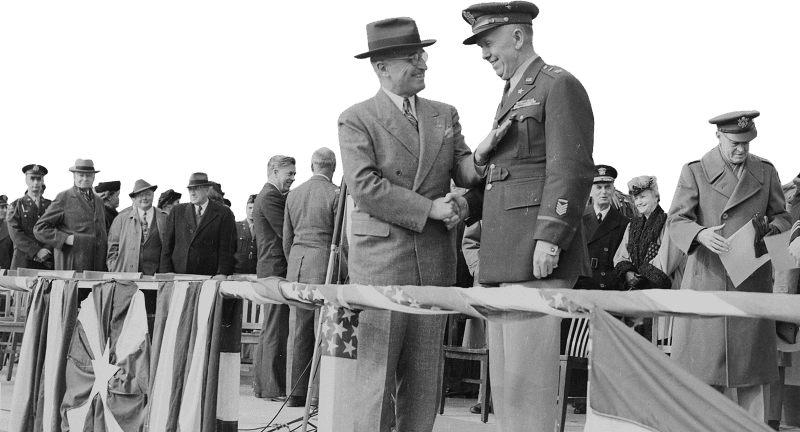
[[[449,195],[480,184],[475,159],[452,105],[425,99],[427,52],[411,18],[367,24],[380,89],[337,122],[345,183],[355,202],[350,224],[350,281],[371,285],[450,286],[456,282],[460,210]],[[505,129],[489,133],[476,152]],[[440,316],[370,310],[359,315],[357,375],[351,399],[356,431],[430,431],[441,389]],[[396,412],[390,412],[396,396]]]

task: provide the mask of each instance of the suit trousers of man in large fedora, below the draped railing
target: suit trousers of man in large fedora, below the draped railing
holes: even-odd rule
[[[430,432],[442,389],[444,316],[367,310],[359,314],[357,432]],[[392,396],[396,395],[395,413]]]

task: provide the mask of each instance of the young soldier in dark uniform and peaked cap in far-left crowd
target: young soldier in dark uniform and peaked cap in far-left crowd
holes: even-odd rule
[[[53,248],[45,245],[33,235],[33,227],[44,214],[52,200],[44,194],[44,176],[47,168],[39,164],[22,167],[25,195],[14,200],[8,211],[8,233],[14,241],[14,259],[11,268],[37,270],[53,269]]]

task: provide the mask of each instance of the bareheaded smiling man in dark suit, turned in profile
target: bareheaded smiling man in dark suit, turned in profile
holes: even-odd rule
[[[283,252],[283,217],[286,194],[297,175],[291,156],[276,155],[267,162],[267,182],[256,197],[253,225],[256,232],[259,278],[286,277]],[[289,337],[289,306],[266,305],[255,353],[253,390],[256,397],[283,401],[286,398],[286,342]]]

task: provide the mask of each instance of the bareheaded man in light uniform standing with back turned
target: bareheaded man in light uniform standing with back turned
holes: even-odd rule
[[[286,278],[290,281],[322,284],[331,253],[333,225],[339,203],[339,188],[331,182],[336,171],[336,154],[322,147],[311,155],[308,181],[286,198],[283,218],[283,252],[288,259]],[[295,388],[288,406],[304,406],[309,374],[305,372],[314,354],[314,309],[291,306],[294,315],[292,364],[289,385]],[[305,372],[305,373],[304,373]]]

